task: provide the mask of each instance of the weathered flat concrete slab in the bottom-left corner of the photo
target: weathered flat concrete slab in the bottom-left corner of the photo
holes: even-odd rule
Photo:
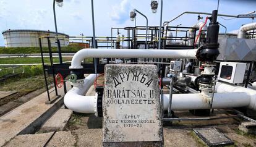
[[[44,146],[47,140],[53,135],[51,133],[41,133],[41,134],[28,134],[28,135],[18,135],[15,136],[9,143],[8,146],[19,146],[19,147],[28,147],[28,146]]]

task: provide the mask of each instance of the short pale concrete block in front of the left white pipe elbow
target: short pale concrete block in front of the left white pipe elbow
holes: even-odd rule
[[[59,109],[43,124],[39,132],[62,131],[72,113],[69,109]]]

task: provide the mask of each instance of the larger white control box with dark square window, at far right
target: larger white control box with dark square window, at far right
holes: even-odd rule
[[[220,62],[218,80],[232,84],[243,83],[246,63]]]

